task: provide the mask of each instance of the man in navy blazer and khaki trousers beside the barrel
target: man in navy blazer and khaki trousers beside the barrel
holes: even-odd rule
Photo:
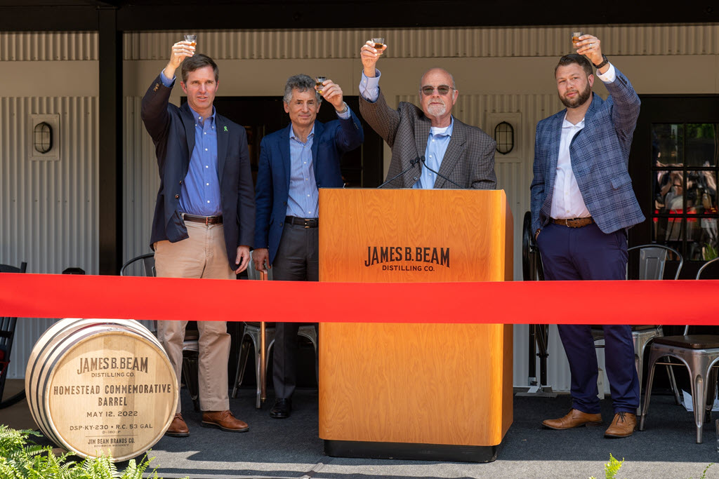
[[[169,103],[180,68],[187,94],[182,107]],[[152,136],[160,170],[150,239],[157,276],[236,279],[249,264],[255,232],[255,201],[244,128],[216,113],[219,70],[190,42],[172,47],[168,65],[142,98],[142,121]],[[182,301],[220,301],[177,292]],[[213,318],[198,318],[198,320]],[[229,411],[225,322],[198,321],[199,396],[203,427],[244,432],[247,424]],[[157,338],[180,382],[187,321],[159,321]],[[167,432],[190,434],[180,402]]]

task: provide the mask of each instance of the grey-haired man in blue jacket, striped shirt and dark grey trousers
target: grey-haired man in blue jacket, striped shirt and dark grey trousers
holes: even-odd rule
[[[315,121],[322,97],[337,120]],[[257,271],[272,267],[274,279],[318,281],[318,188],[344,186],[339,160],[362,144],[359,119],[342,100],[342,88],[331,80],[315,90],[308,75],[294,75],[285,85],[285,112],[290,125],[262,139],[255,203]],[[278,323],[275,330],[273,382],[275,405],[270,415],[289,417],[296,383],[298,323]]]

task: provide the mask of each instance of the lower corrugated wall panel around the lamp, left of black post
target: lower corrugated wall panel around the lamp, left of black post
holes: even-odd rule
[[[79,266],[98,274],[97,98],[0,98],[0,263],[29,273]],[[28,159],[29,116],[60,114],[59,161]],[[54,320],[17,324],[9,377],[24,376],[32,345]]]

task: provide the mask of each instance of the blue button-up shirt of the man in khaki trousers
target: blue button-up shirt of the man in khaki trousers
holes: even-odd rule
[[[175,77],[172,80],[167,78],[165,70],[162,70],[160,80],[168,88],[175,83]],[[190,154],[190,166],[180,188],[180,213],[198,216],[221,215],[215,108],[212,107],[212,116],[209,118],[202,118],[192,108],[190,111],[195,119],[195,148]]]

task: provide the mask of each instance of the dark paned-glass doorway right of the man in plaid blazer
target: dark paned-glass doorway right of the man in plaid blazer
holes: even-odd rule
[[[630,246],[661,243],[684,257],[693,279],[717,255],[719,96],[644,95],[629,173],[646,221]]]

